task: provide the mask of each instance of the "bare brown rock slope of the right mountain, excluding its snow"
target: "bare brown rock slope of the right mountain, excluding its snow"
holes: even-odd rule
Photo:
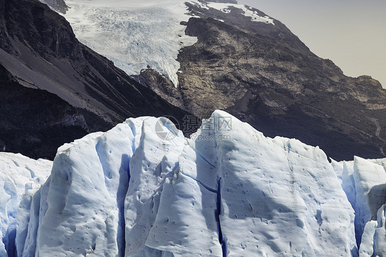
[[[333,159],[385,157],[386,90],[378,81],[344,76],[280,21],[188,6],[201,18],[186,23],[198,42],[179,54],[179,87],[151,70],[141,82],[195,115],[224,109],[265,135],[318,145]]]

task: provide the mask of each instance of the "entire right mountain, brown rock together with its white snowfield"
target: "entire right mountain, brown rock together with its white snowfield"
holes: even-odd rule
[[[385,157],[386,91],[236,1],[63,1],[79,40],[198,116],[223,109],[334,159]]]

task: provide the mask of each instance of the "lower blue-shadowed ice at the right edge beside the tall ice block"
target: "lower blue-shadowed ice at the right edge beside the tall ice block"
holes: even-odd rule
[[[359,256],[386,254],[386,159],[332,161],[342,188],[355,211]]]

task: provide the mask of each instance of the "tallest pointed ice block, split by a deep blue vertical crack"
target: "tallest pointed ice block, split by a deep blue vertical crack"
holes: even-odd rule
[[[223,118],[229,115],[211,119]],[[163,186],[161,203],[172,208],[159,210],[147,244],[174,256],[350,256],[354,214],[326,155],[231,122],[223,136],[193,135],[223,139],[188,139],[176,177]],[[192,224],[196,217],[205,223]]]

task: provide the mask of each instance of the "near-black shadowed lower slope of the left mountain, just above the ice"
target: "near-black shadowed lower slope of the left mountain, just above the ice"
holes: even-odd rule
[[[8,71],[0,70],[0,150],[52,159],[55,146],[110,126],[53,93],[24,87],[10,74],[6,79]]]

